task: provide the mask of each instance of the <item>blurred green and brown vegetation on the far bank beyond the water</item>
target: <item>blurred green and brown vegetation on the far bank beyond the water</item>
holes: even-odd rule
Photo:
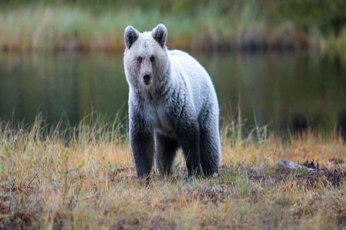
[[[122,51],[124,28],[165,23],[190,50],[346,50],[345,1],[20,1],[0,8],[2,50]]]

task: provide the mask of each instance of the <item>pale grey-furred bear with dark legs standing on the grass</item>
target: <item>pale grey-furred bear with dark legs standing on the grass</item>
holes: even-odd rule
[[[219,105],[207,71],[188,53],[166,47],[163,24],[152,31],[124,31],[124,70],[129,86],[130,149],[137,176],[149,178],[153,162],[171,173],[182,148],[188,176],[219,172]]]

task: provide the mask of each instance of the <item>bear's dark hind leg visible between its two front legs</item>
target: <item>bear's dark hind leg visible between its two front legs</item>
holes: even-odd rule
[[[171,173],[172,164],[179,147],[177,140],[167,137],[166,135],[156,132],[156,167],[159,173],[164,176]]]

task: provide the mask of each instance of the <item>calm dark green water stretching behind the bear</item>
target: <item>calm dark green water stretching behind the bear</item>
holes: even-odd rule
[[[194,54],[212,77],[221,106],[241,108],[248,129],[268,124],[333,129],[346,108],[344,59],[308,53]],[[91,111],[127,114],[122,55],[0,55],[0,118],[30,123],[43,112],[48,124],[76,125]],[[256,120],[256,122],[255,122]]]

